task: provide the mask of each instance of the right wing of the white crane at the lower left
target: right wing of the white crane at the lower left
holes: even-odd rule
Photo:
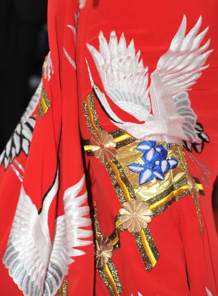
[[[84,217],[89,214],[89,207],[83,206],[87,201],[87,192],[78,196],[84,183],[85,175],[64,193],[64,215],[56,220],[56,230],[45,278],[44,296],[56,294],[64,276],[68,274],[68,265],[75,261],[71,257],[85,254],[84,251],[75,249],[75,247],[83,247],[92,243],[92,241],[83,239],[91,237],[93,232],[80,228],[92,224],[91,219]]]

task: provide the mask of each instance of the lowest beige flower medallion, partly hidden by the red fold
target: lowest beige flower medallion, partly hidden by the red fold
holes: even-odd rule
[[[113,246],[107,236],[99,236],[96,240],[96,267],[100,268],[112,257]]]

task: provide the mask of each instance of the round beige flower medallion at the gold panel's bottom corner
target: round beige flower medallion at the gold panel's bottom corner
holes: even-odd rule
[[[119,210],[119,221],[122,226],[129,232],[139,232],[142,228],[147,227],[147,223],[151,222],[151,210],[145,201],[130,199],[123,203],[123,207]]]

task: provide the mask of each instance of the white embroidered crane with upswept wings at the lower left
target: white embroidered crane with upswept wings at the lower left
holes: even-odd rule
[[[52,244],[48,211],[58,190],[58,174],[39,215],[21,187],[3,263],[24,296],[54,296],[68,274],[68,265],[74,262],[70,257],[85,254],[73,248],[92,243],[81,240],[92,235],[92,231],[80,229],[91,225],[91,220],[83,217],[89,207],[81,206],[87,200],[87,192],[77,197],[84,182],[85,176],[65,191],[64,215],[56,219]]]

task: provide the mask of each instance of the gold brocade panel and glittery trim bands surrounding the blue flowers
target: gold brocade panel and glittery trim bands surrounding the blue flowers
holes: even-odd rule
[[[98,115],[95,110],[93,93],[86,98],[83,102],[83,106],[87,126],[91,134],[95,134],[97,131],[104,131],[99,123]],[[161,181],[153,178],[151,181],[140,185],[139,175],[128,169],[128,165],[132,163],[144,165],[142,160],[143,152],[136,149],[141,141],[132,138],[129,134],[125,133],[125,131],[119,129],[110,132],[109,135],[113,137],[113,142],[116,143],[116,154],[113,159],[110,159],[108,162],[103,162],[103,164],[109,173],[121,206],[131,198],[140,199],[148,203],[149,209],[152,210],[151,217],[153,218],[166,210],[172,202],[178,201],[180,198],[190,194],[186,178],[188,167],[183,145],[168,145],[165,142],[157,142],[156,145],[162,145],[167,151],[166,158],[174,158],[178,161],[178,164],[175,168],[170,168],[169,171],[164,174],[164,180]],[[88,155],[94,155],[94,148],[90,145],[90,140],[84,140],[84,149]],[[203,194],[203,186],[197,179],[196,186],[198,186],[200,193]],[[200,211],[197,205],[196,209],[198,217],[200,217]],[[124,230],[122,223],[119,221],[119,215],[117,215],[115,219],[115,229],[109,237],[113,245],[113,251],[120,247],[119,233]],[[145,268],[149,272],[156,265],[159,258],[159,252],[154,243],[150,229],[147,226],[145,229],[141,229],[140,232],[133,231],[132,235],[145,264]]]

